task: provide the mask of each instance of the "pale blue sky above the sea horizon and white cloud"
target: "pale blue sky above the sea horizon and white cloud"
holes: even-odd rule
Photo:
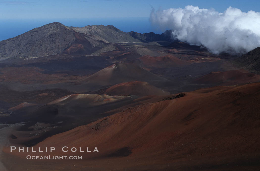
[[[260,1],[208,1],[208,0],[21,0],[0,1],[1,19],[31,18],[92,18],[92,17],[148,17],[151,6],[158,9],[184,8],[186,5],[199,8],[214,8],[223,12],[229,6],[244,12],[258,11]]]

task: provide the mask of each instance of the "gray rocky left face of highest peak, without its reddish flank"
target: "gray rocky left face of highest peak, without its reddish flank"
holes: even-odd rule
[[[0,58],[29,58],[60,54],[73,42],[73,32],[50,23],[0,42]]]

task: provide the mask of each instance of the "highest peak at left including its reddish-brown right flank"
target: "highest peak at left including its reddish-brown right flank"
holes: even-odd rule
[[[91,53],[108,43],[99,36],[84,35],[55,22],[1,41],[0,59]]]

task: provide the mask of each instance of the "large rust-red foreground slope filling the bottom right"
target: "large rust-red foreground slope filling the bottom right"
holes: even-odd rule
[[[14,170],[259,169],[260,83],[167,99],[126,108],[34,146],[56,148],[44,155],[79,155],[82,160],[27,160],[27,155],[43,153],[10,153],[6,147],[2,161]],[[64,153],[63,146],[77,151]],[[99,152],[93,152],[95,147]]]

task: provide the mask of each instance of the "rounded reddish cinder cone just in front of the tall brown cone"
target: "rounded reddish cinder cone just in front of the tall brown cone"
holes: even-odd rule
[[[107,95],[137,95],[139,97],[145,95],[168,95],[170,93],[161,90],[153,85],[143,81],[130,81],[126,83],[116,84],[109,87],[105,94]]]

